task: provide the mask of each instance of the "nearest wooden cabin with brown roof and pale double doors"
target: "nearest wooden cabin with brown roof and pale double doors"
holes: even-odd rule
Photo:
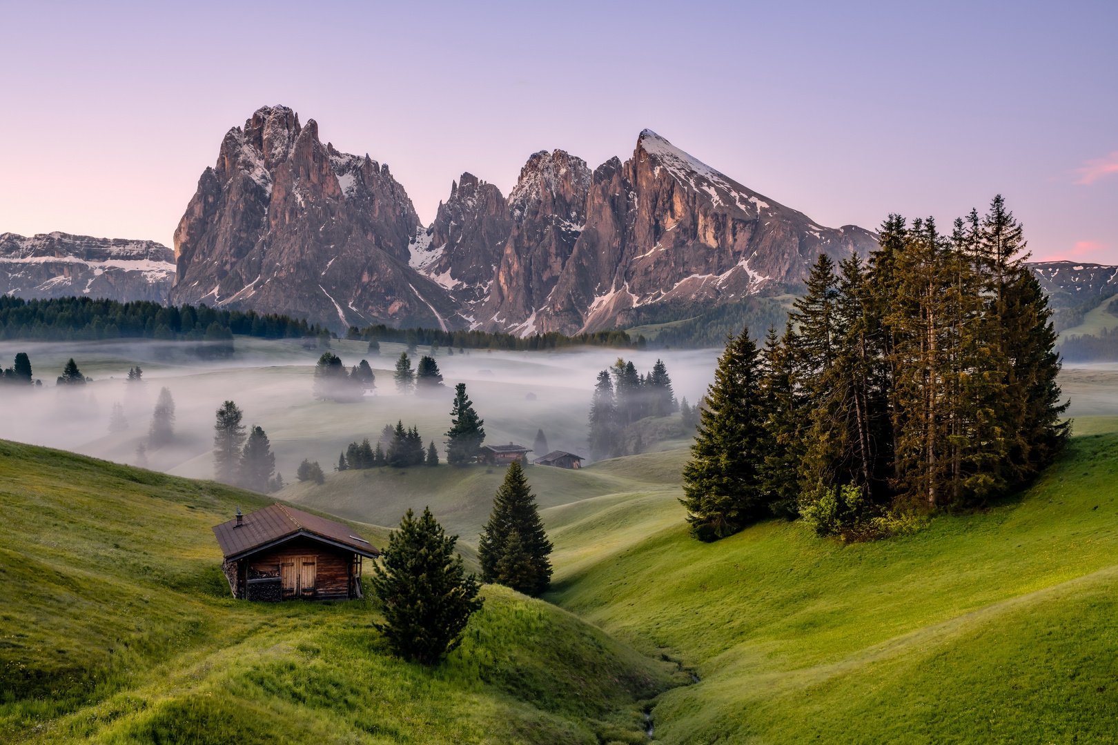
[[[361,561],[380,555],[341,523],[272,505],[214,526],[221,569],[238,600],[361,596]]]

